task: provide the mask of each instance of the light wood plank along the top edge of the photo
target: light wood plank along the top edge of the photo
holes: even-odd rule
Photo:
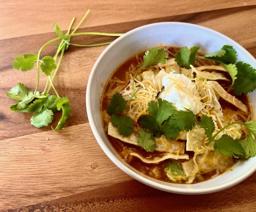
[[[109,25],[130,21],[147,20],[164,16],[176,16],[192,14],[210,10],[236,8],[255,5],[254,0],[190,0],[166,1],[158,0],[148,2],[147,0],[94,0],[94,1],[72,1],[60,2],[58,0],[34,1],[32,3],[10,0],[2,1],[0,6],[0,39],[34,35],[52,31],[53,22],[57,23],[62,30],[68,29],[71,19],[76,16],[81,20],[88,9],[91,10],[90,18],[82,27],[98,26],[98,23]],[[1,5],[0,4],[0,5]],[[190,6],[191,5],[191,6]],[[36,6],[36,8],[34,8]],[[68,9],[67,9],[68,8]],[[36,17],[35,11],[36,10]],[[10,16],[9,14],[26,14],[22,16]],[[46,15],[50,14],[50,16]],[[113,14],[115,14],[113,16]],[[34,23],[37,23],[36,25]],[[19,23],[18,25],[13,23]],[[6,28],[5,26],[8,26]],[[20,30],[22,29],[22,30]]]

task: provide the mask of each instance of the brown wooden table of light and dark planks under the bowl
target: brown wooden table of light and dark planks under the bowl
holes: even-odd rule
[[[172,2],[172,3],[171,3]],[[162,192],[132,179],[100,149],[88,123],[86,84],[106,48],[70,47],[56,89],[67,96],[72,117],[60,132],[34,128],[30,114],[12,112],[6,92],[17,82],[36,86],[36,71],[12,68],[17,55],[34,52],[90,14],[79,31],[124,33],[155,22],[189,22],[234,39],[256,57],[255,0],[44,0],[0,1],[0,209],[11,211],[255,211],[256,173],[227,190],[206,195]],[[79,37],[80,43],[113,37]],[[54,46],[43,55],[54,55]],[[39,86],[44,88],[46,79]],[[53,123],[55,126],[57,122]]]

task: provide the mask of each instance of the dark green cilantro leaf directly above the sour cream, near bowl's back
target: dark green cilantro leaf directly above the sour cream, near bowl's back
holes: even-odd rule
[[[195,65],[196,53],[199,49],[199,46],[193,46],[190,49],[184,46],[174,55],[174,60],[179,66],[190,69],[190,65]]]

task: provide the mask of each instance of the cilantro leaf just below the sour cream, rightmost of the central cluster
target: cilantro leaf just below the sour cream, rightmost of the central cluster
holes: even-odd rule
[[[172,120],[180,131],[191,130],[196,125],[196,115],[190,110],[179,110],[172,115]]]

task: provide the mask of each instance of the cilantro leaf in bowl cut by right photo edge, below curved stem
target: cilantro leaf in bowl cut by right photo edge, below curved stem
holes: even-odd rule
[[[256,141],[253,139],[252,135],[249,133],[245,139],[238,141],[244,149],[244,158],[250,158],[256,156]]]

